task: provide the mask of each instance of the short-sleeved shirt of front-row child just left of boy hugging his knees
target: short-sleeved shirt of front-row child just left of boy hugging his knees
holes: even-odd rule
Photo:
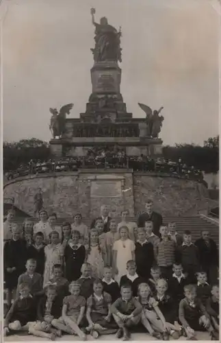
[[[87,306],[91,307],[92,312],[103,315],[108,314],[108,305],[111,303],[112,297],[106,292],[103,292],[101,298],[98,298],[94,294],[92,294],[92,296],[90,296],[87,300]]]

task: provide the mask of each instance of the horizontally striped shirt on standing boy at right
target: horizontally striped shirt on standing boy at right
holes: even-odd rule
[[[157,264],[159,267],[170,267],[175,262],[176,244],[170,239],[161,240],[157,244]]]

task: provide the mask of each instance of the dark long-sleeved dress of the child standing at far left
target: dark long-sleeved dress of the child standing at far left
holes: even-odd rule
[[[18,276],[25,272],[25,264],[27,261],[27,246],[23,239],[10,239],[5,242],[3,248],[3,265],[5,287],[12,290],[17,287]],[[13,272],[7,272],[7,268],[15,267]]]

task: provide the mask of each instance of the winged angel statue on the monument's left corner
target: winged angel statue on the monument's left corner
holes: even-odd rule
[[[50,108],[52,114],[49,128],[53,134],[53,138],[62,137],[65,129],[65,119],[66,115],[70,115],[70,110],[72,110],[74,104],[67,104],[60,108],[58,113],[57,108]]]

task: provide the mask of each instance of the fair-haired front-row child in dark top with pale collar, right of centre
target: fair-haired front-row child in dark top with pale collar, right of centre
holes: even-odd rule
[[[168,283],[165,279],[159,279],[156,284],[158,307],[165,318],[164,340],[168,340],[169,336],[177,340],[182,335],[182,328],[178,323],[177,304],[173,298],[167,294]]]

